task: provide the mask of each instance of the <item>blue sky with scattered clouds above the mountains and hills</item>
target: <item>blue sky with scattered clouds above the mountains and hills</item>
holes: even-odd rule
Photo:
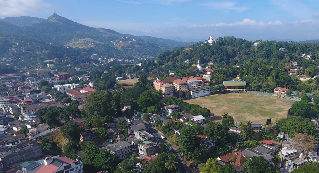
[[[91,27],[181,41],[319,39],[319,0],[0,0],[0,18],[58,15]]]

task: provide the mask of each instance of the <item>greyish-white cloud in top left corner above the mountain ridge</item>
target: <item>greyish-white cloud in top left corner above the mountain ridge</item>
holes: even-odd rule
[[[33,12],[43,11],[51,4],[41,0],[0,0],[0,17],[12,17],[27,15]]]

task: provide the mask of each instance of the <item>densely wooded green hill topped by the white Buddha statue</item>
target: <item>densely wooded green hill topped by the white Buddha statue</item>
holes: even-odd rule
[[[194,64],[199,59],[204,67],[214,69],[211,77],[215,84],[223,80],[234,79],[240,75],[248,83],[248,90],[271,91],[277,86],[287,87],[290,90],[317,90],[317,86],[309,82],[309,86],[300,80],[291,77],[288,72],[296,68],[289,66],[291,61],[299,65],[299,73],[308,76],[318,75],[319,59],[315,55],[319,51],[319,43],[294,43],[294,42],[262,42],[257,47],[252,47],[252,42],[235,38],[233,36],[219,37],[216,44],[205,45],[197,43],[188,47],[176,48],[172,51],[161,53],[154,61],[158,68],[149,69],[152,73],[174,70],[175,75],[184,77],[194,75]],[[279,51],[285,47],[286,51]],[[301,54],[311,55],[311,59],[303,59]],[[184,61],[189,59],[189,63]],[[159,67],[164,65],[164,67]],[[319,81],[318,81],[319,82]]]

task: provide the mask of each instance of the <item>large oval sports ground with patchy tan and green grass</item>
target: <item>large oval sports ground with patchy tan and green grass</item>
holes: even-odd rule
[[[234,117],[235,122],[247,122],[266,124],[266,119],[271,118],[271,123],[287,117],[287,110],[292,103],[284,98],[271,96],[228,93],[216,94],[201,98],[194,98],[186,101],[190,104],[197,104],[208,108],[213,120],[221,122],[222,114]]]

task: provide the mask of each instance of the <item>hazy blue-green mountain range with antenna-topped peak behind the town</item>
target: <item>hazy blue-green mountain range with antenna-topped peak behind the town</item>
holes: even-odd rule
[[[0,36],[56,43],[66,47],[92,48],[97,53],[105,52],[108,56],[125,54],[129,57],[156,57],[163,51],[191,44],[88,27],[57,14],[47,20],[26,16],[0,19]]]

